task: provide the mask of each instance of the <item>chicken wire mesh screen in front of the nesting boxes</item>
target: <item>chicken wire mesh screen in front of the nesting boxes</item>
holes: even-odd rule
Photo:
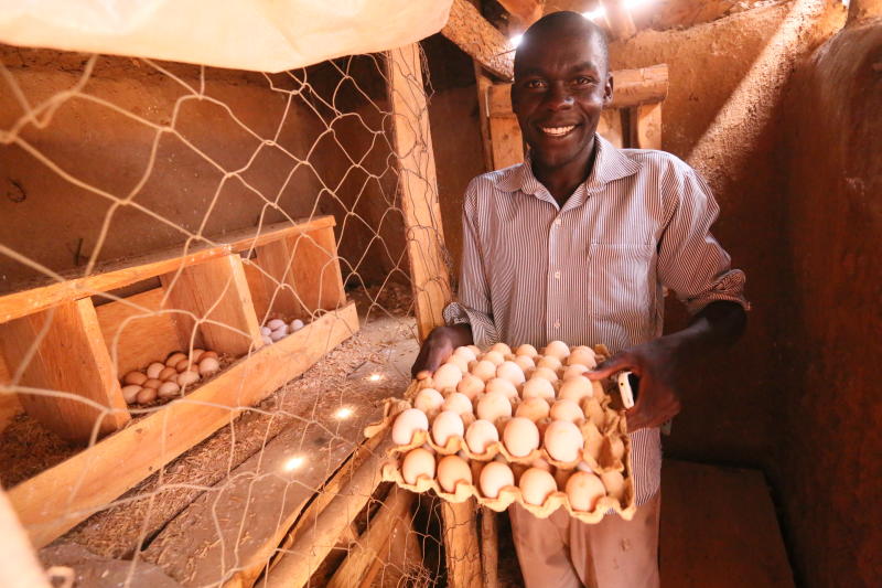
[[[77,586],[438,581],[437,505],[356,450],[417,350],[389,61],[0,46],[0,480],[44,566]],[[433,170],[407,173],[433,196]]]

